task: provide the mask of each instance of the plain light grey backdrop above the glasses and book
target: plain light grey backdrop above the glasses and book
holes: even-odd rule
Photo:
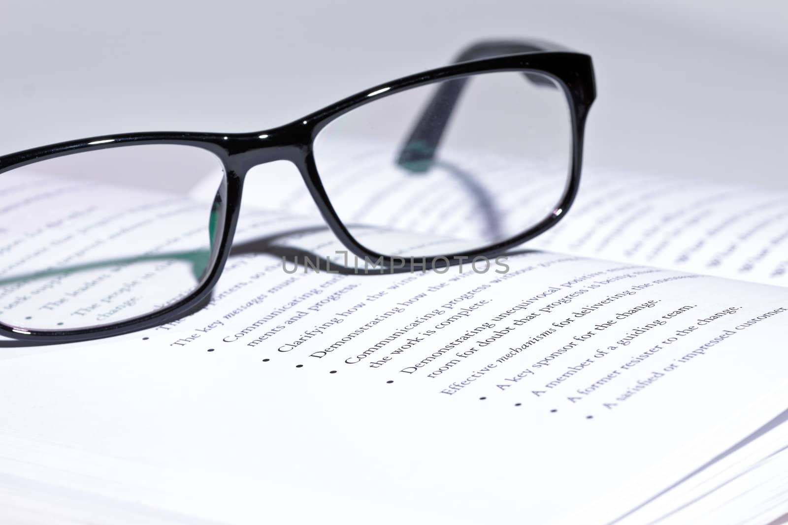
[[[788,187],[788,2],[4,0],[0,154],[254,131],[485,37],[593,55],[587,165]]]

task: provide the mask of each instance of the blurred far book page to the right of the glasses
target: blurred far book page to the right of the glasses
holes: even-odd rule
[[[583,177],[567,218],[532,246],[788,284],[788,194],[599,169]]]

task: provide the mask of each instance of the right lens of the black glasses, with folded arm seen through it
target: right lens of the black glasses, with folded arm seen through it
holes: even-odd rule
[[[571,126],[552,79],[485,73],[353,109],[320,131],[314,158],[362,246],[434,257],[506,241],[554,213],[571,170]]]

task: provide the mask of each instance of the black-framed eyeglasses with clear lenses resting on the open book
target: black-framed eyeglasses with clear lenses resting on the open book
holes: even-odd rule
[[[266,131],[109,135],[0,157],[0,335],[73,342],[193,311],[225,267],[244,180],[272,161],[296,165],[365,261],[494,257],[567,213],[594,97],[585,54],[482,42]],[[198,179],[206,194],[156,189]]]

